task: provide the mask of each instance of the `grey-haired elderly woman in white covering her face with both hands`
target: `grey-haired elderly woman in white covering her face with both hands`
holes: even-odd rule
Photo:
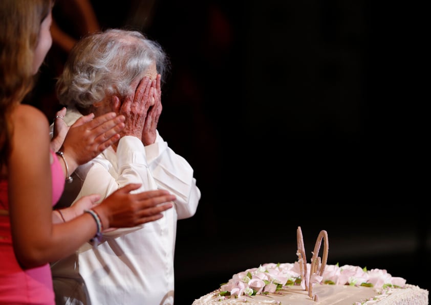
[[[168,190],[177,199],[159,221],[106,231],[97,247],[84,245],[75,257],[53,264],[58,301],[174,302],[177,220],[196,213],[201,194],[189,163],[168,147],[157,130],[167,68],[161,46],[136,31],[110,29],[89,35],[69,55],[57,83],[59,101],[68,108],[64,120],[72,124],[86,113],[97,117],[111,111],[126,120],[118,143],[76,170],[78,195],[63,196],[62,204],[89,193],[104,198],[131,182],[142,183],[137,191]],[[79,270],[74,270],[75,262]],[[87,291],[67,278],[81,284],[83,280]]]

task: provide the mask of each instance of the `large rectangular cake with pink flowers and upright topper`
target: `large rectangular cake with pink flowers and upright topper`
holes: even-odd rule
[[[321,243],[322,257],[319,257]],[[320,231],[307,263],[300,227],[294,263],[266,263],[236,273],[192,305],[427,305],[428,291],[383,269],[327,265],[328,234]]]

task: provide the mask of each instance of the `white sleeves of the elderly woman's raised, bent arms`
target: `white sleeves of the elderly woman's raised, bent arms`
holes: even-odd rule
[[[193,169],[160,135],[154,144],[146,147],[137,137],[124,136],[119,140],[117,153],[105,150],[92,163],[84,174],[78,198],[94,193],[106,198],[126,184],[142,183],[134,192],[162,189],[176,195],[174,204],[178,219],[196,213],[201,193]]]

